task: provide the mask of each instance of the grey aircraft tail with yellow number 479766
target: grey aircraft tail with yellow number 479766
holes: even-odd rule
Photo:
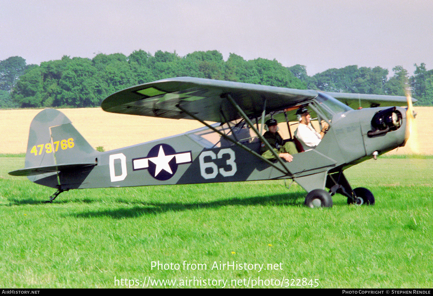
[[[60,187],[58,172],[72,167],[92,167],[98,152],[55,109],[39,112],[30,124],[25,168],[11,172],[49,187]]]

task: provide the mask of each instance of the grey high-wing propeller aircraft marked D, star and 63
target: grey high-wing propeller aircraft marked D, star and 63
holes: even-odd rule
[[[304,204],[309,207],[332,207],[335,193],[347,196],[349,204],[374,204],[373,194],[362,187],[352,189],[343,171],[404,146],[414,119],[413,102],[409,96],[163,79],[113,93],[103,100],[102,109],[195,119],[203,128],[98,152],[64,114],[44,109],[30,125],[25,168],[9,174],[56,188],[48,203],[78,188],[291,179],[307,191]],[[287,122],[289,127],[300,107],[329,129],[316,148],[300,150],[286,162],[263,137],[265,120]],[[290,129],[289,135],[294,141]],[[264,158],[261,145],[275,158]]]

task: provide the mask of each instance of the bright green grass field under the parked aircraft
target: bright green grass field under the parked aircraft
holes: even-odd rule
[[[376,205],[336,195],[309,209],[284,181],[71,190],[42,204],[55,190],[9,176],[24,167],[12,156],[0,157],[2,287],[432,287],[432,158],[351,167]],[[227,261],[235,270],[212,268]]]

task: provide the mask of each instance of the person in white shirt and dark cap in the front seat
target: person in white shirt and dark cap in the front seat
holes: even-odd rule
[[[301,142],[304,151],[316,148],[326,134],[329,126],[325,123],[320,133],[317,132],[311,125],[310,112],[305,107],[297,109],[296,115],[299,119],[299,125],[294,132],[294,136]]]

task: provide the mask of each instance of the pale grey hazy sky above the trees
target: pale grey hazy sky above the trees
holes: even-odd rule
[[[414,63],[433,68],[433,1],[0,0],[0,60],[139,49],[275,58],[309,75],[348,65],[412,75]]]

